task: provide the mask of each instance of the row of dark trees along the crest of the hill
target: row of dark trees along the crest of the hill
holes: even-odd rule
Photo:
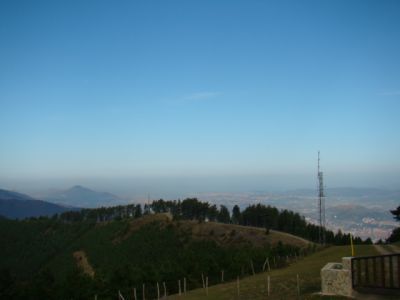
[[[274,229],[288,232],[314,242],[319,240],[320,227],[307,223],[303,216],[293,211],[278,210],[276,207],[269,205],[256,204],[248,206],[243,211],[240,210],[238,205],[235,205],[230,212],[225,205],[217,207],[215,204],[201,202],[197,198],[187,198],[183,201],[160,199],[150,204],[145,204],[143,209],[140,204],[82,209],[64,212],[55,215],[54,218],[64,222],[106,222],[139,218],[143,214],[166,212],[171,213],[175,220],[213,221],[255,226],[266,228],[267,230]],[[334,233],[325,228],[322,231],[325,233],[328,244],[345,245],[349,243],[350,234],[344,234],[341,231]],[[354,242],[356,244],[372,243],[370,239],[362,241],[359,237],[356,237]]]

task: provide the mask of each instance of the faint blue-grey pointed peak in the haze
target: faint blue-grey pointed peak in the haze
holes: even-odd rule
[[[116,195],[96,192],[80,185],[64,191],[53,191],[42,197],[44,200],[74,207],[96,208],[123,204],[124,200]]]

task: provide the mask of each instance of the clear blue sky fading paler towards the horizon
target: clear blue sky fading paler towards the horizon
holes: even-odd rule
[[[313,187],[318,150],[400,184],[400,1],[0,2],[0,185]]]

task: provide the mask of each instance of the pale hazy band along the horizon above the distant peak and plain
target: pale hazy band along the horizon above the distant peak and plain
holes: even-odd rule
[[[303,177],[302,179],[300,177]],[[330,176],[328,176],[329,178]],[[335,188],[371,188],[399,190],[398,185],[367,184],[365,180],[346,184],[342,180],[327,181],[326,189]],[[328,180],[327,178],[327,180]],[[0,180],[0,188],[41,195],[51,190],[66,190],[80,185],[98,192],[110,192],[125,199],[137,200],[158,198],[183,198],[201,193],[280,193],[296,190],[317,191],[316,181],[312,176],[204,176],[204,177],[158,177],[158,178],[74,178],[74,179],[36,179],[36,180]],[[329,178],[332,179],[332,178]],[[338,178],[337,178],[338,179]],[[329,195],[327,195],[329,196]]]

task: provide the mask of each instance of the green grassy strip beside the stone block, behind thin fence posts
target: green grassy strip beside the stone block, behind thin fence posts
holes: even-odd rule
[[[373,246],[356,246],[356,255],[378,254]],[[271,293],[268,299],[296,299],[296,275],[299,274],[301,286],[301,298],[318,298],[312,294],[320,291],[321,268],[328,262],[339,262],[341,257],[349,256],[348,246],[336,246],[324,249],[310,255],[284,269],[272,270],[270,272]],[[207,299],[265,299],[266,297],[267,273],[240,279],[240,297],[237,296],[237,285],[235,282],[219,284],[209,287]],[[193,290],[187,293],[184,299],[194,300],[205,298],[203,289]],[[173,295],[170,299],[179,299]]]

